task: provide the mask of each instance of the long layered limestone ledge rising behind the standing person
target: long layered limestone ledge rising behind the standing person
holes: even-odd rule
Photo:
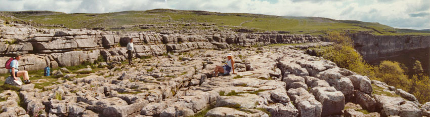
[[[319,42],[311,35],[265,33],[236,33],[233,31],[180,30],[162,32],[100,31],[91,29],[39,29],[31,26],[0,27],[0,55],[24,54],[26,63],[21,70],[39,70],[44,67],[78,65],[93,62],[99,56],[108,61],[126,60],[124,46],[133,38],[137,57],[160,56],[197,49],[226,49],[232,45],[269,45]],[[12,43],[12,44],[11,44]],[[8,57],[0,58],[0,62]],[[0,66],[0,73],[6,69]]]

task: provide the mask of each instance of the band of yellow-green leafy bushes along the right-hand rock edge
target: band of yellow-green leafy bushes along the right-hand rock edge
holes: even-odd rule
[[[339,67],[367,75],[372,80],[382,81],[390,86],[403,89],[415,95],[420,103],[430,101],[430,79],[428,75],[423,74],[421,62],[415,61],[410,71],[412,75],[409,75],[408,78],[409,69],[404,64],[388,60],[382,61],[377,66],[366,63],[363,57],[354,50],[353,41],[348,36],[329,33],[327,39],[334,45],[311,48],[313,52],[316,52],[313,54],[322,56],[336,63]]]

